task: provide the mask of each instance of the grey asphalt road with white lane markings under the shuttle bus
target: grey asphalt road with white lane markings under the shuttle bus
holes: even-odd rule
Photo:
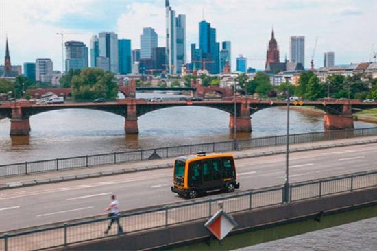
[[[290,182],[377,169],[377,144],[290,155]],[[240,190],[284,183],[285,156],[236,160]],[[172,169],[74,180],[0,191],[0,232],[105,215],[115,194],[121,211],[184,202],[170,190]]]

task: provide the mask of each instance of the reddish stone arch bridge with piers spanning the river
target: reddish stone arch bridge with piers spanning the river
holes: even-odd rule
[[[236,114],[234,114],[234,103]],[[293,102],[291,102],[293,103]],[[25,135],[30,132],[29,117],[42,112],[60,109],[84,108],[101,110],[120,115],[125,118],[124,130],[127,134],[138,133],[138,117],[148,112],[173,106],[204,106],[228,112],[229,126],[234,129],[236,116],[236,130],[251,132],[252,121],[250,115],[258,110],[276,106],[287,106],[286,101],[263,101],[259,99],[234,99],[217,101],[162,101],[150,102],[145,99],[119,99],[116,102],[106,103],[66,103],[66,104],[32,104],[29,101],[18,101],[0,106],[0,117],[10,118],[10,135]],[[304,101],[302,106],[314,106],[326,112],[324,126],[328,130],[354,128],[352,113],[363,109],[377,108],[377,103],[363,103],[361,101]]]

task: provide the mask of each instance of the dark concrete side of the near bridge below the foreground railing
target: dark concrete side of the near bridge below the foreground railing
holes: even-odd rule
[[[364,209],[362,209],[364,208]],[[308,220],[314,222],[313,218],[321,221],[319,217],[320,212],[325,212],[323,218],[331,213],[342,213],[347,211],[365,210],[366,213],[356,213],[354,220],[361,219],[362,215],[367,217],[377,216],[377,188],[367,189],[363,191],[356,191],[353,193],[344,193],[325,198],[317,198],[313,200],[304,200],[302,202],[295,202],[291,204],[283,204],[279,206],[272,206],[269,208],[260,208],[258,210],[246,211],[242,213],[234,214],[233,217],[239,226],[231,232],[233,237],[227,237],[222,241],[219,246],[217,241],[209,241],[210,233],[204,227],[206,220],[190,222],[188,224],[180,224],[177,226],[169,226],[168,228],[158,228],[156,230],[149,230],[144,232],[136,232],[134,234],[125,234],[121,237],[109,237],[109,239],[102,239],[97,242],[83,243],[77,246],[71,246],[67,250],[141,250],[141,249],[154,249],[154,248],[177,248],[182,246],[191,245],[192,243],[198,243],[198,246],[190,246],[188,249],[208,249],[219,250],[229,248],[240,248],[242,246],[249,246],[253,242],[247,241],[232,241],[239,235],[245,235],[247,232],[258,229],[273,229],[281,227],[287,224],[297,224]],[[347,219],[352,217],[339,217],[337,224],[325,225],[337,226],[339,224],[348,223]],[[291,235],[297,235],[302,232],[308,232],[311,228],[305,228],[303,226],[310,226],[308,222],[302,225],[300,228],[294,228],[291,231]],[[313,228],[312,230],[317,230]],[[301,229],[301,230],[300,230]],[[275,239],[289,236],[289,231],[282,231],[283,235],[271,235],[275,236]],[[248,237],[245,237],[248,238]],[[250,238],[249,238],[250,239]],[[259,242],[270,241],[271,238],[260,238]],[[214,245],[205,245],[203,242],[215,243]],[[216,244],[217,243],[217,244]],[[229,243],[224,246],[223,243]],[[240,246],[242,245],[242,246]],[[206,248],[207,247],[207,248]],[[226,248],[228,247],[228,248]],[[185,248],[181,248],[185,249]]]

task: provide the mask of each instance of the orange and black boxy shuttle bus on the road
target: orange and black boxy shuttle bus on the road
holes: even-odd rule
[[[174,162],[171,191],[188,199],[208,191],[231,193],[239,188],[233,154],[206,154],[181,156]]]

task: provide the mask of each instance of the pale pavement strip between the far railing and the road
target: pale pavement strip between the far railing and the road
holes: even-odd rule
[[[302,152],[348,145],[361,145],[367,143],[377,143],[377,136],[317,141],[310,143],[296,143],[290,145],[290,152]],[[236,159],[253,158],[258,156],[269,156],[273,154],[284,154],[285,145],[258,147],[247,150],[227,152],[234,154]],[[5,176],[0,180],[0,189],[10,189],[13,187],[23,187],[36,184],[48,184],[53,182],[64,182],[68,180],[78,180],[83,178],[96,178],[100,176],[125,174],[151,169],[171,168],[173,166],[173,161],[174,158],[163,158],[155,160],[135,161],[116,165],[96,165],[93,167],[81,167],[77,169],[62,171],[47,171],[27,175]]]

